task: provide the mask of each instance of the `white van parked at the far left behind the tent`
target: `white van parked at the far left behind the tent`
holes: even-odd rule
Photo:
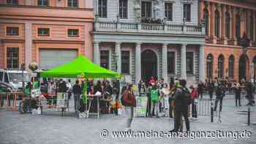
[[[30,81],[29,72],[21,70],[5,70],[0,69],[0,82],[9,83],[16,90],[22,90],[22,77],[25,83]],[[26,86],[26,84],[25,84]]]

